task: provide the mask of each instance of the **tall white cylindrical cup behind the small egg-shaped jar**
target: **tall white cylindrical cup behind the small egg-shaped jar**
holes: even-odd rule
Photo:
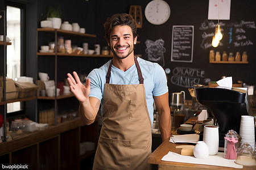
[[[205,125],[203,141],[209,148],[209,155],[216,155],[218,152],[218,127]]]

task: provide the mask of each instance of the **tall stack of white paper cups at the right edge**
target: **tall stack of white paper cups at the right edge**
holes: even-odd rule
[[[242,143],[249,143],[254,149],[255,136],[254,136],[254,117],[241,116],[240,136]]]

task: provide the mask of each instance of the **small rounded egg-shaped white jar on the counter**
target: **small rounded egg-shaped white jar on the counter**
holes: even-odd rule
[[[209,156],[209,149],[208,146],[204,143],[204,141],[198,141],[193,154],[196,158],[201,158],[201,159],[207,159]]]

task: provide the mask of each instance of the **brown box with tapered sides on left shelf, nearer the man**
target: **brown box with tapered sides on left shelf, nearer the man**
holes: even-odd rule
[[[35,92],[38,90],[38,86],[30,82],[15,82],[15,85],[20,99],[35,96]]]

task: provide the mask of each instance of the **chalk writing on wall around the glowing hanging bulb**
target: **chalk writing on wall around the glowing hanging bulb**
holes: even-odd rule
[[[201,48],[207,49],[212,46],[212,37],[214,35],[215,26],[213,21],[205,20],[201,23],[199,29],[203,31],[201,34],[202,42]],[[224,23],[220,22],[221,32],[222,35],[225,36],[225,33],[228,36],[227,41],[220,41],[220,46],[227,45],[228,48],[231,47],[241,47],[241,46],[248,46],[253,45],[254,41],[250,39],[248,35],[250,29],[256,29],[255,22],[244,21],[241,20],[240,23]]]

